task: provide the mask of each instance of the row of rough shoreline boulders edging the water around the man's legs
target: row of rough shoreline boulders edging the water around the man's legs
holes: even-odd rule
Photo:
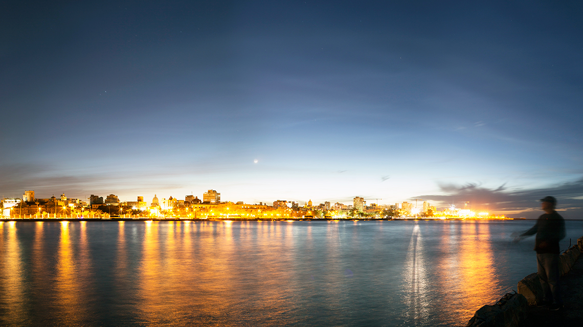
[[[577,244],[569,248],[559,257],[559,269],[561,276],[566,275],[583,252],[583,237],[577,240]],[[535,305],[542,299],[543,290],[539,277],[535,273],[526,276],[518,282],[518,293],[505,294],[494,305],[484,305],[476,311],[467,327],[521,326],[528,312],[528,305]]]

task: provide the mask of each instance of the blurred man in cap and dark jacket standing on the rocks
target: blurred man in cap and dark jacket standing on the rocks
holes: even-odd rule
[[[537,275],[545,294],[545,298],[537,305],[539,307],[549,305],[549,310],[559,310],[563,307],[559,289],[559,241],[565,237],[565,221],[554,210],[557,205],[556,198],[545,197],[540,201],[545,214],[540,215],[535,226],[519,234],[514,240],[519,241],[525,236],[536,234]]]

